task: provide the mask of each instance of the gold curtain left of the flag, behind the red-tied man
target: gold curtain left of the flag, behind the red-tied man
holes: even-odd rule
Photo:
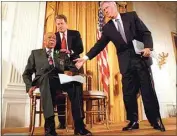
[[[45,33],[56,32],[55,16],[64,14],[68,19],[69,29],[78,30],[81,34],[84,52],[86,52],[96,42],[96,28],[98,15],[98,2],[47,2],[46,18],[45,18]],[[97,89],[97,61],[94,58],[84,65],[84,70],[93,72],[93,88]]]

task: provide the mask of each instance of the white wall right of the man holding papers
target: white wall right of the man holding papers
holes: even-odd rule
[[[171,32],[176,32],[177,11],[167,8],[169,4],[171,5],[168,2],[133,2],[134,10],[152,32],[156,54],[169,54],[162,69],[159,69],[156,59],[153,59],[152,65],[162,117],[168,117],[171,107],[169,104],[176,104],[176,61]]]

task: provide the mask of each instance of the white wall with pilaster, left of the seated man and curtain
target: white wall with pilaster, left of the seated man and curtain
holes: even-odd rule
[[[32,49],[41,48],[46,2],[2,2],[2,127],[29,125],[22,73]]]

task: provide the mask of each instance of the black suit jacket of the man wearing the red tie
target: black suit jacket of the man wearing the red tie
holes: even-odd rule
[[[60,50],[61,37],[59,32],[56,32],[55,35],[57,38],[57,44],[55,50]],[[74,54],[72,54],[73,59],[79,58],[80,57],[79,54],[83,52],[83,43],[79,31],[67,30],[67,44],[68,44],[68,49],[74,52]]]

